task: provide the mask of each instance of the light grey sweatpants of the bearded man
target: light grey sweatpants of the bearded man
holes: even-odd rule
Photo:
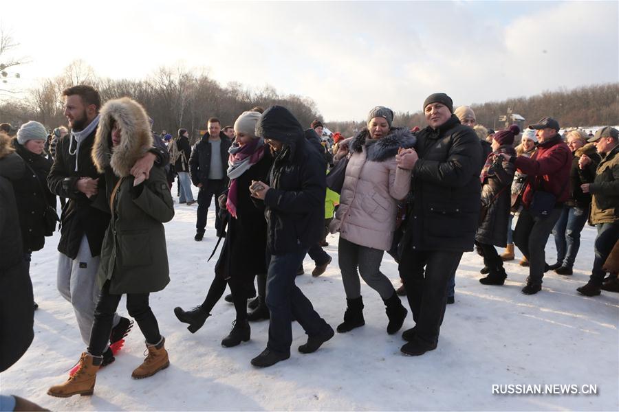
[[[94,258],[91,255],[85,235],[74,260],[64,253],[58,256],[58,291],[72,304],[82,340],[86,345],[90,341],[94,310],[100,293],[97,285],[99,261],[98,256]],[[113,325],[118,325],[118,321],[120,316],[114,313]]]

